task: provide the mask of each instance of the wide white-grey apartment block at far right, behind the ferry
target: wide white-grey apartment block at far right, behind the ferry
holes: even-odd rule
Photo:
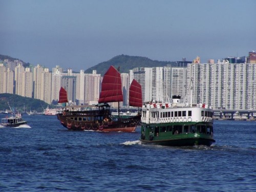
[[[197,103],[214,109],[246,110],[256,106],[256,63],[191,63],[187,68],[187,90],[192,82]]]

